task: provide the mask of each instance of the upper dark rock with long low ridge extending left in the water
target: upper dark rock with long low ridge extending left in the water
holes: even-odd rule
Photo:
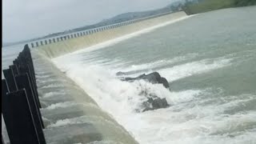
[[[122,72],[118,72],[117,74],[124,74]],[[139,75],[136,78],[123,78],[123,81],[128,81],[128,82],[133,82],[135,80],[140,80],[140,79],[144,79],[147,80],[148,82],[151,83],[162,83],[163,86],[165,86],[166,88],[169,88],[169,83],[167,82],[166,78],[162,78],[161,75],[158,72],[153,72],[150,74],[142,74]]]

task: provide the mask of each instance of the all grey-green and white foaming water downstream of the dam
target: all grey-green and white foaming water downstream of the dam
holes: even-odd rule
[[[256,7],[198,14],[53,61],[143,144],[256,142]],[[158,71],[170,83],[122,82]],[[169,108],[143,113],[149,90]]]

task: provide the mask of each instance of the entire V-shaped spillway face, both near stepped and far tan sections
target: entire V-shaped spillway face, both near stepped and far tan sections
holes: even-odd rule
[[[183,12],[166,14],[95,34],[30,46],[46,143],[138,143],[84,90],[58,70],[50,58],[184,17]]]

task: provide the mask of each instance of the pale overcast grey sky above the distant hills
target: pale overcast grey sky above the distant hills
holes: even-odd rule
[[[2,40],[16,42],[86,26],[177,0],[2,0]]]

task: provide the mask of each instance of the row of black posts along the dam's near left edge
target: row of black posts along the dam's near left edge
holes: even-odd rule
[[[13,65],[2,71],[2,116],[10,144],[46,144],[29,46],[26,44]]]

